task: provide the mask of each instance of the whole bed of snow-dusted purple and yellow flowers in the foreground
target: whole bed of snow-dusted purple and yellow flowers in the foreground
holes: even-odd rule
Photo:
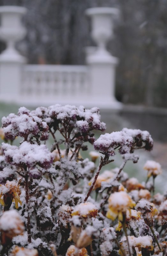
[[[153,140],[127,128],[95,140],[105,128],[96,107],[21,107],[2,118],[1,255],[167,255],[167,198],[154,195],[160,164],[146,162],[146,182],[123,171]],[[110,170],[115,154],[122,163]]]

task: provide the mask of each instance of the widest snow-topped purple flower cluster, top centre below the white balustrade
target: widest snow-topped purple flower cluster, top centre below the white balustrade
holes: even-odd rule
[[[68,141],[72,139],[72,143],[88,141],[93,144],[95,139],[92,130],[103,131],[106,128],[105,123],[100,121],[100,112],[96,107],[85,109],[83,106],[56,104],[48,108],[38,107],[31,113],[47,122],[50,129],[59,130],[61,134],[68,133]]]

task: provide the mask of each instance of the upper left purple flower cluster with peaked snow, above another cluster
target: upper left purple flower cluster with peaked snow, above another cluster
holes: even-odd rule
[[[13,113],[2,118],[2,128],[6,139],[14,140],[16,136],[28,140],[28,135],[40,140],[48,139],[48,125],[41,118],[33,115],[27,108],[19,108],[18,115]]]

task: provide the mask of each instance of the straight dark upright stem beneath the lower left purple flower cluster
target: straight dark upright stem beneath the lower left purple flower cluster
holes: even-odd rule
[[[29,192],[28,192],[28,175],[25,176],[25,190],[26,190],[26,204],[27,204],[27,234],[28,243],[31,243],[31,225],[30,225],[30,215],[29,215]]]

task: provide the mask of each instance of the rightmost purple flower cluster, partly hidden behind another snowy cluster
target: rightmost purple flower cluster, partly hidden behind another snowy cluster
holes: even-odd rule
[[[140,129],[123,128],[123,132],[133,137],[133,145],[137,148],[144,148],[145,150],[153,149],[153,139],[148,131],[141,131]]]

